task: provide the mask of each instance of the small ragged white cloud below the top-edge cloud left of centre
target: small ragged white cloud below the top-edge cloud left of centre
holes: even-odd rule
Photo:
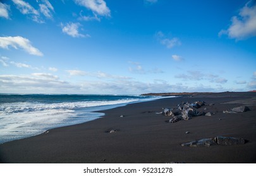
[[[68,23],[66,26],[64,26],[61,23],[62,31],[63,33],[66,33],[67,35],[70,35],[72,37],[90,37],[90,35],[82,35],[79,33],[78,28],[80,27],[80,23]]]

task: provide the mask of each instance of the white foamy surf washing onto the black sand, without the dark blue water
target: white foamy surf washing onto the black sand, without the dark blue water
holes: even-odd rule
[[[138,101],[138,99],[51,104],[35,102],[2,103],[0,104],[0,143],[39,135],[50,128],[90,121],[103,115],[102,113],[90,113],[90,111],[106,109],[97,107],[127,104],[134,101]]]

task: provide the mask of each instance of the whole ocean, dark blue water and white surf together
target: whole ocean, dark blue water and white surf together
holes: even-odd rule
[[[104,116],[104,113],[94,111],[159,98],[130,95],[0,94],[0,143]]]

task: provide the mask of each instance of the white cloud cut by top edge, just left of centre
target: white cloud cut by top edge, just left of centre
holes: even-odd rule
[[[75,3],[101,16],[111,16],[111,11],[103,0],[75,0]]]

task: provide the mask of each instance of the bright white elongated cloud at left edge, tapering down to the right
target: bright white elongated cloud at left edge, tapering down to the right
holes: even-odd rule
[[[0,37],[0,47],[4,49],[9,49],[9,47],[13,47],[15,49],[21,48],[30,55],[43,55],[43,53],[40,52],[39,49],[31,45],[31,42],[27,38],[23,38],[22,36]]]

